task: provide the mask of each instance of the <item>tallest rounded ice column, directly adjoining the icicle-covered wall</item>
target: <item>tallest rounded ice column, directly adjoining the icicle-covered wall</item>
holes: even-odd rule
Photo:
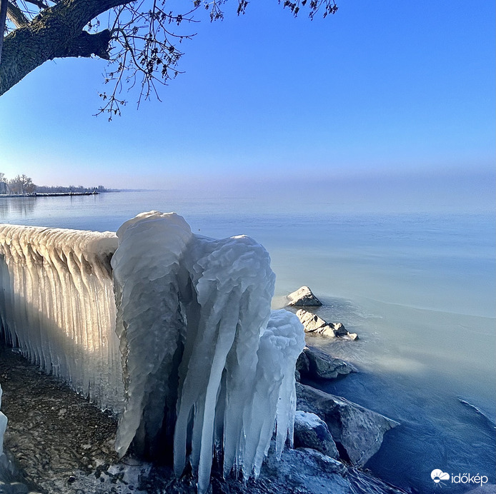
[[[117,236],[119,248],[111,265],[126,405],[116,450],[124,455],[134,440],[138,453],[153,456],[160,449],[164,415],[169,430],[175,418],[179,339],[184,333],[179,263],[192,233],[180,216],[144,213],[124,223]]]

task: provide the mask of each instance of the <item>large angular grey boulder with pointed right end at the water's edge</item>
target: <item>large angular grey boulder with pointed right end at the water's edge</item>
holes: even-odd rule
[[[319,415],[337,445],[341,458],[363,466],[380,448],[395,420],[356,403],[297,383],[297,409]],[[347,458],[346,458],[347,457]]]

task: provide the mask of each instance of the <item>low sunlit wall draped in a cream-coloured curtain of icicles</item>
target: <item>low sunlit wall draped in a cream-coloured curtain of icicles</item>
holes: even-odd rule
[[[115,233],[0,225],[0,333],[46,373],[119,412],[116,247]]]

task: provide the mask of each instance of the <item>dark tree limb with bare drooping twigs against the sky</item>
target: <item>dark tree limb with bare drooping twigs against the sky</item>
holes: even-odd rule
[[[306,8],[311,19],[317,12],[325,17],[337,11],[334,0],[278,1],[294,16]],[[98,56],[109,61],[105,84],[113,86],[109,94],[100,94],[104,106],[98,113],[108,113],[111,119],[126,103],[119,98],[124,89],[139,91],[138,106],[152,96],[159,99],[157,85],[167,85],[181,74],[179,46],[195,36],[183,26],[199,22],[194,16],[202,10],[211,21],[224,19],[226,2],[189,0],[182,2],[185,11],[178,12],[166,10],[167,0],[0,0],[2,11],[6,9],[0,32],[7,34],[0,39],[0,49],[5,39],[0,95],[46,60]],[[244,14],[247,6],[248,0],[237,0],[237,14]],[[99,31],[105,12],[108,29]]]

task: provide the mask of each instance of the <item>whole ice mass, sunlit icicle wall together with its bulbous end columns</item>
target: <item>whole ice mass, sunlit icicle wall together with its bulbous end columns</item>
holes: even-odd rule
[[[198,236],[175,213],[116,236],[0,226],[0,333],[119,414],[119,455],[173,448],[204,493],[215,454],[225,475],[257,476],[274,430],[279,457],[292,441],[304,332],[270,310],[269,261],[252,238]]]

